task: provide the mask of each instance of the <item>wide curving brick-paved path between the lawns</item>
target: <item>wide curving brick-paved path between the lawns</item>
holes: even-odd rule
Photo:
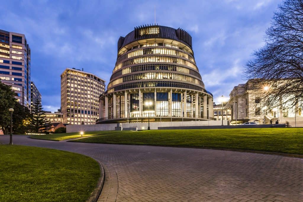
[[[9,136],[0,136],[8,143]],[[303,201],[303,159],[221,150],[33,140],[14,144],[100,160],[108,181],[98,201]],[[1,151],[0,151],[1,155]],[[106,175],[106,174],[105,174]]]

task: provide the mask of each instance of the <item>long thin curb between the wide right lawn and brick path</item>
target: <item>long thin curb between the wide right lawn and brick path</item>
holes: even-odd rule
[[[92,144],[118,144],[118,145],[132,145],[132,146],[164,146],[164,147],[179,147],[179,148],[206,149],[206,150],[224,150],[224,151],[236,151],[236,152],[249,152],[249,153],[278,155],[278,156],[285,156],[285,157],[296,157],[296,158],[302,158],[303,159],[302,154],[280,153],[280,152],[269,152],[269,151],[258,151],[258,150],[228,149],[228,148],[220,148],[220,147],[151,145],[151,144],[123,144],[123,143],[94,143],[94,142],[81,142],[81,141],[70,141],[70,142],[92,143]]]

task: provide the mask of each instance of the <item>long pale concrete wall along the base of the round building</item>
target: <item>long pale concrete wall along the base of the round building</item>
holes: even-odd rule
[[[175,121],[175,122],[150,122],[151,130],[158,130],[158,127],[178,127],[178,126],[221,126],[222,121]],[[228,125],[227,120],[223,120],[224,125]],[[101,131],[115,130],[117,123],[95,124],[95,125],[67,125],[66,132]],[[147,130],[148,123],[122,123],[123,128],[138,128],[138,130]]]

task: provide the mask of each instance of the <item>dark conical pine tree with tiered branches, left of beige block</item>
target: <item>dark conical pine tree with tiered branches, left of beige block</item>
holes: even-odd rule
[[[41,103],[39,103],[39,101],[35,102],[34,110],[32,112],[32,125],[34,132],[40,133],[48,130],[47,127],[49,126],[50,121],[46,119],[45,112],[42,109]]]

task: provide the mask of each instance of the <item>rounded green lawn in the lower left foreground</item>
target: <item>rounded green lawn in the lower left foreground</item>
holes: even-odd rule
[[[86,201],[99,164],[80,154],[0,145],[0,201]]]

